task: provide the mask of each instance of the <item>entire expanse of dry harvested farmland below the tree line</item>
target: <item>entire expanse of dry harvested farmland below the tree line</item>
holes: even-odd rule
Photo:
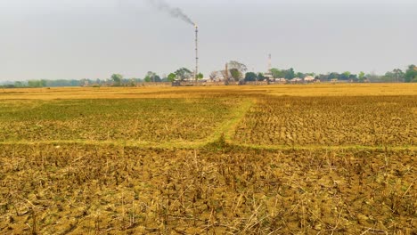
[[[3,234],[415,234],[417,85],[0,91]]]

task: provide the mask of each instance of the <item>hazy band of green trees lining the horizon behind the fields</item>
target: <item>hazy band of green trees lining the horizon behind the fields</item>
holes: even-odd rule
[[[375,73],[365,74],[360,72],[353,74],[349,71],[342,73],[331,72],[326,74],[315,74],[295,71],[293,68],[290,69],[271,69],[269,73],[262,72],[248,72],[248,68],[245,64],[239,61],[229,61],[227,63],[227,70],[221,69],[213,71],[208,75],[208,79],[216,81],[223,79],[227,81],[265,81],[269,78],[285,78],[294,79],[305,77],[315,77],[316,80],[322,82],[340,80],[349,82],[372,82],[372,83],[417,83],[417,66],[409,65],[405,71],[402,69],[393,69],[392,71],[386,72],[384,75],[376,75]],[[29,81],[16,81],[13,83],[4,83],[0,85],[5,88],[13,87],[59,87],[59,86],[135,86],[140,83],[160,83],[160,82],[174,82],[174,81],[193,81],[195,78],[202,79],[203,74],[199,73],[197,76],[190,69],[180,68],[176,71],[171,72],[168,76],[159,76],[157,73],[149,71],[143,78],[125,78],[120,74],[113,74],[110,78],[106,79],[57,79],[57,80],[29,80]]]

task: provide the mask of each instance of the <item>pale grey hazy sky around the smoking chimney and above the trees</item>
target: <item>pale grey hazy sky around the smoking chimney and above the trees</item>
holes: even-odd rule
[[[200,26],[200,70],[385,73],[417,63],[415,0],[166,0]],[[194,28],[148,0],[0,0],[0,81],[194,67]]]

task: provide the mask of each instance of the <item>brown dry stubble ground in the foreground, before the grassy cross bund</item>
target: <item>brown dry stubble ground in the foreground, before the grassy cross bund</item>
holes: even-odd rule
[[[220,150],[221,149],[221,150]],[[413,150],[5,145],[3,234],[415,234]]]

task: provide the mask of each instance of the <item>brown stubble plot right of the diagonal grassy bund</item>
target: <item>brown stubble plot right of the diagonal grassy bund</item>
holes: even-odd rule
[[[416,96],[266,97],[249,109],[234,140],[263,146],[413,146],[416,107]]]

